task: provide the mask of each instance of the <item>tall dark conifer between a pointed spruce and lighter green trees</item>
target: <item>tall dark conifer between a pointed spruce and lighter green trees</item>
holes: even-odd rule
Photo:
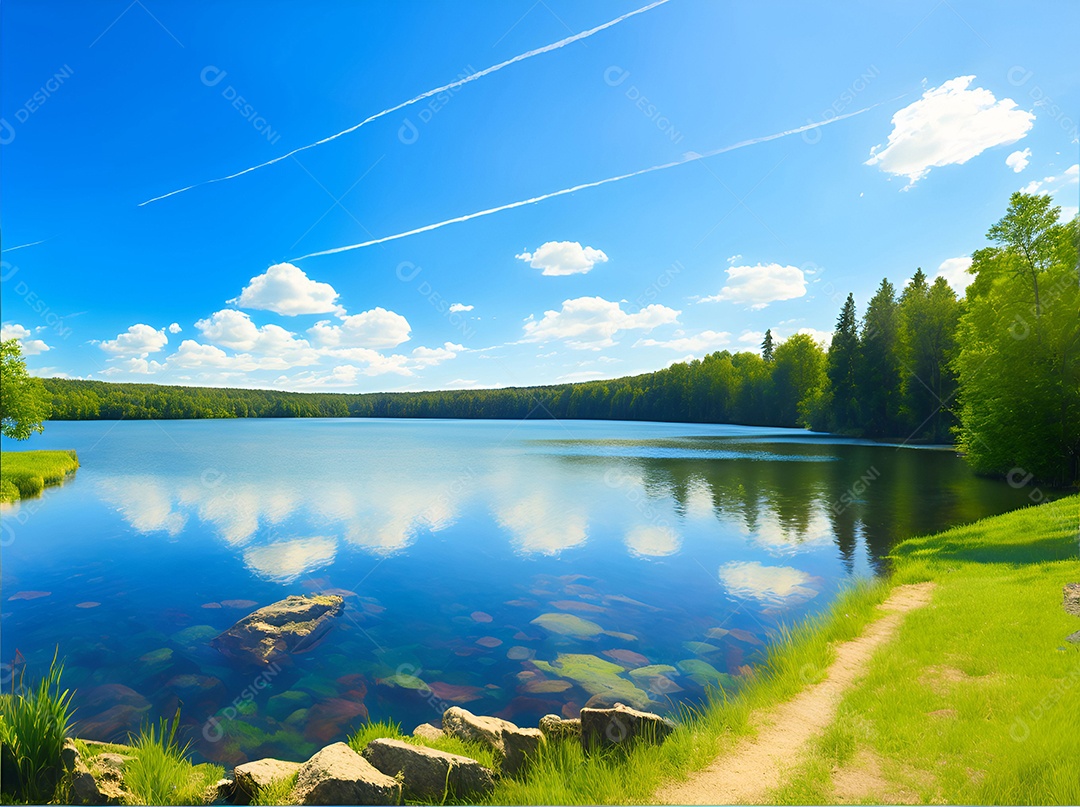
[[[896,350],[896,291],[882,280],[863,315],[859,338],[859,401],[864,434],[900,430],[900,361]]]

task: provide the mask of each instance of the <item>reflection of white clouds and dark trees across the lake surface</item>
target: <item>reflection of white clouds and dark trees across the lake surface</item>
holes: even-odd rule
[[[353,481],[324,466],[286,483],[243,465],[105,475],[97,485],[133,529],[177,538],[195,519],[278,582],[332,564],[338,539],[389,556],[470,508],[488,512],[524,555],[558,555],[619,526],[631,556],[666,557],[681,550],[688,525],[710,517],[770,555],[834,543],[850,573],[861,544],[880,569],[899,539],[1024,503],[1023,492],[975,479],[946,450],[789,434],[765,450],[762,440],[531,440],[514,461],[472,450],[457,462],[367,463]]]

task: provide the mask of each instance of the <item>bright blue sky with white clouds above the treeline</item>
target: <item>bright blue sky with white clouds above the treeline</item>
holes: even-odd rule
[[[1065,2],[669,0],[197,185],[644,5],[9,0],[4,338],[158,384],[617,377],[962,285],[1014,190],[1076,212]]]

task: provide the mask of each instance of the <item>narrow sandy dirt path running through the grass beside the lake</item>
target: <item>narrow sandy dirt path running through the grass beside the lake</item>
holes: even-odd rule
[[[779,786],[810,738],[826,728],[840,699],[862,675],[877,647],[895,635],[904,615],[930,602],[933,583],[901,586],[879,608],[885,616],[859,638],[836,647],[825,680],[757,721],[757,736],[740,740],[730,752],[683,782],[657,793],[661,804],[760,804]]]

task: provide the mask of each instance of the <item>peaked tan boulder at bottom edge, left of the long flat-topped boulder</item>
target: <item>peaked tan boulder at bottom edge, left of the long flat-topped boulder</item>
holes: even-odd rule
[[[401,804],[402,783],[335,742],[300,766],[293,796],[299,804]]]

